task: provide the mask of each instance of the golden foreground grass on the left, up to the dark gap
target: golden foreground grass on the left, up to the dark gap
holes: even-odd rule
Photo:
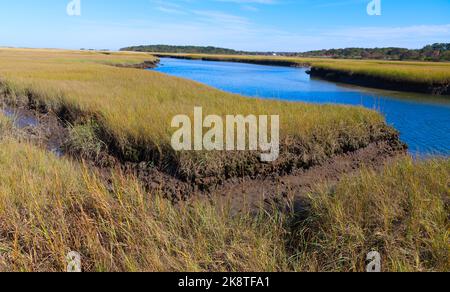
[[[65,159],[8,138],[0,142],[0,270],[289,269],[283,218],[232,215],[206,201],[172,205],[120,173],[106,184]]]

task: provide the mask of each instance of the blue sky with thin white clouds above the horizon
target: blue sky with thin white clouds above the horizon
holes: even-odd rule
[[[118,49],[139,44],[241,50],[418,48],[450,42],[450,0],[0,0],[0,46]]]

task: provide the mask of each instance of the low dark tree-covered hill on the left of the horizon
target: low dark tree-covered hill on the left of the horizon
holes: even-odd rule
[[[242,52],[231,49],[216,48],[216,47],[200,47],[200,46],[149,45],[149,46],[127,47],[120,50],[151,52],[151,53],[180,53],[180,54],[220,54],[220,55],[242,54]]]

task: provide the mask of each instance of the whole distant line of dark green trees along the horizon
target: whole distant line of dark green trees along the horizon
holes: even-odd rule
[[[293,52],[246,52],[218,47],[202,46],[168,46],[148,45],[134,46],[121,51],[137,51],[151,53],[179,53],[179,54],[217,54],[217,55],[279,55],[292,57],[320,57],[336,59],[374,59],[396,61],[450,61],[450,43],[433,44],[418,50],[404,48],[346,48],[317,50],[305,53]]]

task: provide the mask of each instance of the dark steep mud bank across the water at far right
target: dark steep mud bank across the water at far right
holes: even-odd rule
[[[433,95],[450,95],[450,83],[429,84],[429,83],[406,82],[406,81],[400,82],[377,76],[368,76],[353,72],[345,72],[315,67],[311,68],[309,74],[312,77],[321,78],[328,81],[346,83],[363,87],[403,91],[403,92],[418,92]]]

